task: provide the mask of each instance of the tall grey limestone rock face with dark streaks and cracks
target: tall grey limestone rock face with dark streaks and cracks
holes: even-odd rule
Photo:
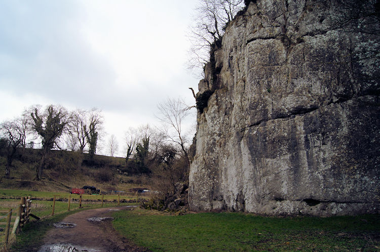
[[[258,0],[229,23],[199,83],[191,210],[380,213],[380,27],[343,5]]]

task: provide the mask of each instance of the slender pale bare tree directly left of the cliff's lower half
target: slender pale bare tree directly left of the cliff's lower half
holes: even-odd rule
[[[183,133],[183,121],[189,114],[188,106],[181,99],[168,98],[165,102],[158,104],[160,113],[157,117],[163,122],[162,134],[169,141],[176,143],[182,150],[183,157],[185,158],[188,167],[190,160],[187,155],[186,143],[187,138]]]

